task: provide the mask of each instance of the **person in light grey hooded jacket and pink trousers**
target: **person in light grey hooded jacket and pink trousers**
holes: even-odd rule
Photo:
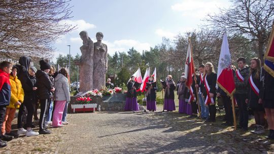
[[[61,68],[56,78],[54,79],[55,89],[55,108],[52,117],[53,127],[63,127],[62,114],[65,103],[71,100],[70,86],[67,79],[67,70]]]

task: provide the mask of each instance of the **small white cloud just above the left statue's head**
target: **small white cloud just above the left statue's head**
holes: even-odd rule
[[[83,19],[80,19],[80,20],[66,20],[66,21],[63,21],[63,22],[65,22],[67,24],[71,24],[73,26],[77,25],[77,29],[74,30],[74,31],[77,31],[77,32],[80,32],[82,30],[89,30],[89,29],[96,28],[96,26],[94,24],[88,23]]]

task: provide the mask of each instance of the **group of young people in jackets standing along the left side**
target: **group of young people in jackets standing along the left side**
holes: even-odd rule
[[[19,135],[50,134],[47,129],[50,125],[57,128],[68,124],[70,84],[67,70],[55,71],[55,67],[43,59],[40,60],[40,70],[37,70],[30,66],[30,61],[30,57],[22,56],[19,65],[8,61],[0,63],[0,147]],[[39,104],[40,118],[37,114]],[[18,108],[18,130],[14,133],[11,127]],[[36,127],[32,120],[39,122],[39,132],[32,130]]]

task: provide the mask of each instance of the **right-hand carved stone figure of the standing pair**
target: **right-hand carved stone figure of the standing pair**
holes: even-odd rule
[[[100,90],[105,86],[106,73],[108,71],[108,47],[102,43],[104,35],[102,32],[96,33],[97,42],[94,43],[93,54],[93,89]]]

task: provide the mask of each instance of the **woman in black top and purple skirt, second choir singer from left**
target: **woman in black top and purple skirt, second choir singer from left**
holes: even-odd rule
[[[151,75],[150,79],[148,81],[149,83],[154,82],[154,77]],[[146,86],[146,96],[147,96],[147,110],[149,111],[155,111],[156,110],[156,90],[157,90],[157,85],[156,87],[153,87],[151,84],[150,86]]]

